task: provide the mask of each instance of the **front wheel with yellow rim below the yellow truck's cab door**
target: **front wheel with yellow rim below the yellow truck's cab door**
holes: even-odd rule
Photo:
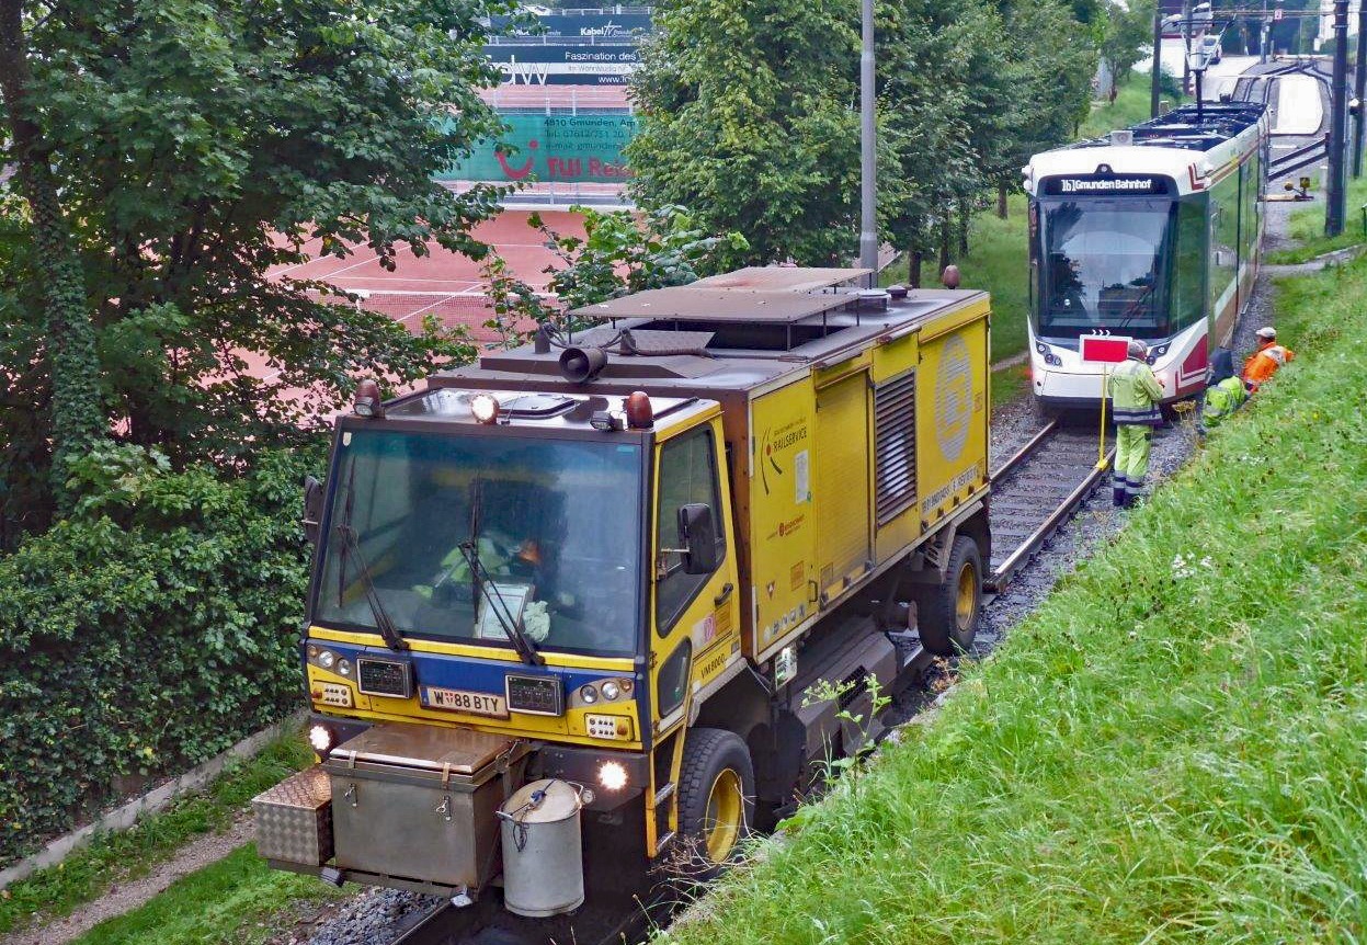
[[[755,767],[740,736],[692,729],[679,770],[679,871],[711,879],[755,822]]]

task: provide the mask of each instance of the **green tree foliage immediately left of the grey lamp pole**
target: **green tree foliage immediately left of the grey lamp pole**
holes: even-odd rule
[[[655,7],[627,148],[647,207],[740,231],[727,267],[828,264],[854,239],[857,19],[849,0],[668,0]]]

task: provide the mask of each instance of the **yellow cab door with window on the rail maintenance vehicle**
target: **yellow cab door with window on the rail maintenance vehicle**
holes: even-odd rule
[[[741,658],[740,595],[720,414],[655,446],[651,581],[651,715],[656,736],[686,714],[689,695]],[[679,510],[707,506],[716,566],[689,573]]]

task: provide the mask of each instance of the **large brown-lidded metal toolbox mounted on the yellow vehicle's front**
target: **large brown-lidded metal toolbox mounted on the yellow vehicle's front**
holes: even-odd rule
[[[387,722],[332,749],[336,866],[478,890],[491,878],[503,778],[526,744],[469,729]]]

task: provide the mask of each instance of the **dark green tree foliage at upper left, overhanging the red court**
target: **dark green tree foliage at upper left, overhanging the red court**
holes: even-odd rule
[[[64,416],[66,349],[96,386],[101,432],[178,466],[250,461],[358,372],[402,382],[469,351],[327,298],[305,263],[392,267],[428,239],[485,252],[469,234],[498,191],[432,178],[499,127],[477,94],[498,81],[481,18],[509,0],[0,3],[22,7],[30,70],[0,129],[0,164],[21,170],[0,185],[0,253],[15,261],[0,272],[0,376],[41,414],[0,417],[10,496],[45,501],[34,477]],[[51,176],[55,204],[19,186],[26,167]],[[52,324],[53,260],[70,264],[63,312],[81,313],[93,350]]]

